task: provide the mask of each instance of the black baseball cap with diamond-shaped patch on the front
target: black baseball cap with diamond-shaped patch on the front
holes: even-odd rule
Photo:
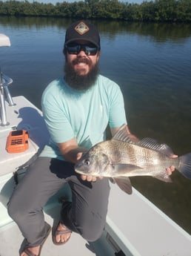
[[[67,28],[64,46],[77,40],[91,42],[100,49],[100,36],[98,29],[89,22],[78,21]]]

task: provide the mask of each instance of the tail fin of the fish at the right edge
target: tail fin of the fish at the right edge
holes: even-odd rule
[[[184,177],[191,180],[191,153],[184,154],[183,156],[178,158],[178,171],[180,171],[180,173],[184,175]]]

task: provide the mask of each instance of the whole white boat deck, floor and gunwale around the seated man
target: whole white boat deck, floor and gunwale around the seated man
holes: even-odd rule
[[[46,133],[41,132],[41,125],[44,124],[40,111],[22,96],[13,99],[16,106],[7,107],[7,116],[13,115],[11,120],[8,118],[10,127],[0,128],[1,149],[4,151],[11,127],[18,126],[28,129],[32,151],[31,154],[27,153],[27,158],[22,157],[22,154],[19,157],[12,156],[14,160],[10,159],[10,155],[7,157],[7,152],[0,154],[0,256],[19,255],[23,240],[19,229],[7,214],[7,201],[14,187],[14,169],[10,165],[18,159],[19,165],[24,164],[47,140]],[[63,191],[59,192],[58,197],[61,193]],[[44,208],[45,218],[51,225],[58,219],[58,207],[58,198],[55,196]],[[128,195],[111,184],[107,224],[102,237],[95,243],[88,243],[78,234],[72,234],[64,246],[55,246],[50,235],[41,256],[50,255],[191,256],[191,237],[134,188],[133,194]]]

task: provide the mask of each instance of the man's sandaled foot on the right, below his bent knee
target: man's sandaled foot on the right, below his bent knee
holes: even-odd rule
[[[53,235],[53,243],[56,244],[56,246],[67,243],[67,241],[70,239],[71,234],[72,232],[70,229],[67,229],[67,227],[63,224],[58,223],[56,232]]]

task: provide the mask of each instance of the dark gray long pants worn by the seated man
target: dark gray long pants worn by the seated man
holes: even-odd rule
[[[63,203],[61,223],[88,241],[101,236],[107,215],[110,186],[107,178],[95,183],[83,181],[73,164],[39,157],[30,165],[8,203],[8,213],[15,220],[28,246],[38,246],[47,234],[43,207],[64,186],[70,185],[72,203]]]

